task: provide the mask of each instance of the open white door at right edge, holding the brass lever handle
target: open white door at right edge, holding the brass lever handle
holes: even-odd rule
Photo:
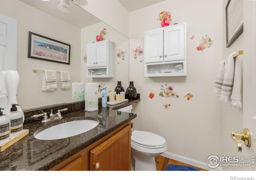
[[[244,1],[243,128],[248,128],[251,146],[242,144],[242,156],[256,156],[256,1]],[[241,128],[242,132],[242,128]],[[256,170],[256,164],[245,168]]]

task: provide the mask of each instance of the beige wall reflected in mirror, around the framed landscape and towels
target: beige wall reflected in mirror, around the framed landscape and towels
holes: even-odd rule
[[[80,80],[80,29],[18,0],[1,0],[0,13],[17,19],[17,71],[20,75],[17,101],[24,110],[72,101],[72,90],[62,90],[60,75],[54,92],[42,92],[42,72],[33,69],[70,71],[72,82]],[[70,65],[28,58],[28,32],[71,45]],[[28,103],[29,102],[29,103]]]

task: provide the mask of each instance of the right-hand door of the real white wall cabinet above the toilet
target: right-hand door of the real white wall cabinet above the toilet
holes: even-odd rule
[[[186,23],[164,29],[164,61],[184,60],[186,52]]]

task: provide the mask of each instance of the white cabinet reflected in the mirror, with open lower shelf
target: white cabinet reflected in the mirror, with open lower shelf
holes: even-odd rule
[[[91,78],[113,77],[113,42],[103,40],[87,44],[86,75]]]

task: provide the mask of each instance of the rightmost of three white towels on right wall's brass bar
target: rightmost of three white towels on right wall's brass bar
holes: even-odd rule
[[[241,102],[241,61],[242,59],[238,56],[235,60],[235,72],[234,72],[234,84],[231,95],[230,105],[235,108],[242,108]]]

